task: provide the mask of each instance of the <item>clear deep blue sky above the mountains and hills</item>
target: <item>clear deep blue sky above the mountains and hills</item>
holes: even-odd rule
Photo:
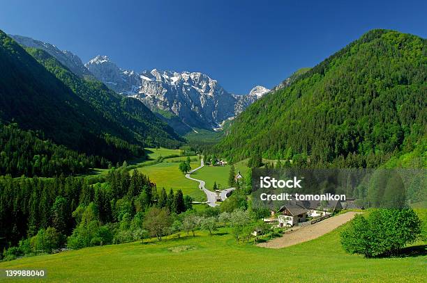
[[[244,94],[316,65],[370,29],[426,38],[426,12],[427,1],[394,0],[3,0],[0,29],[84,62],[101,54],[136,71],[204,72]]]

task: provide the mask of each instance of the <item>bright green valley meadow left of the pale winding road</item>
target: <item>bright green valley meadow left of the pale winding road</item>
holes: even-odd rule
[[[190,164],[192,168],[197,168],[200,165],[200,161],[192,161]],[[200,191],[199,183],[186,179],[179,171],[178,162],[163,161],[162,163],[137,168],[137,170],[156,183],[158,189],[164,187],[168,192],[170,188],[174,190],[180,188],[184,195],[190,195],[193,200],[197,202],[206,201],[206,195]]]

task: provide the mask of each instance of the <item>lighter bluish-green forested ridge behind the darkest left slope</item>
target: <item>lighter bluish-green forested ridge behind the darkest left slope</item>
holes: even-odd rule
[[[40,49],[27,49],[29,54],[52,72],[108,120],[108,127],[117,124],[126,140],[154,146],[177,147],[181,138],[172,128],[161,122],[147,106],[132,97],[123,97],[106,88],[98,81],[83,80],[68,71],[55,58]]]

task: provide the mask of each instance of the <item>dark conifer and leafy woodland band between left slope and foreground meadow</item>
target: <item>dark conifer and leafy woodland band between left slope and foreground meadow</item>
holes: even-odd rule
[[[179,214],[191,209],[191,202],[181,190],[157,191],[147,176],[130,174],[126,166],[112,168],[105,183],[94,185],[64,175],[0,177],[0,248],[27,245],[47,231],[57,239],[55,248],[131,241],[131,223],[141,222],[151,207]]]

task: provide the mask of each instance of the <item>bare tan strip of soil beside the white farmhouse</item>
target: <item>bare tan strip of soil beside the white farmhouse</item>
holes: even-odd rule
[[[305,227],[292,227],[292,231],[286,232],[282,237],[274,238],[267,243],[259,243],[257,245],[264,248],[278,249],[289,247],[290,245],[297,245],[297,243],[310,241],[314,238],[318,238],[324,234],[327,234],[340,225],[343,225],[347,221],[352,220],[352,218],[357,213],[359,212],[349,211],[339,216],[327,218],[313,225],[308,225]]]

